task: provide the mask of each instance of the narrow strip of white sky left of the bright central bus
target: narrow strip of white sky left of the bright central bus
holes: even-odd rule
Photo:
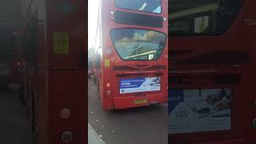
[[[88,1],[88,50],[94,47],[100,0]]]

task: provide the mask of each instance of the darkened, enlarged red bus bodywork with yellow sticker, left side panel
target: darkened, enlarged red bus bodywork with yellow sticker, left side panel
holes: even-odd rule
[[[46,7],[37,11],[31,5]],[[68,11],[62,6],[62,1],[31,3],[26,26],[21,28],[22,42],[30,42],[31,34],[35,41],[32,54],[21,42],[20,94],[37,144],[87,142],[86,2],[70,2]],[[46,19],[38,20],[40,12]]]

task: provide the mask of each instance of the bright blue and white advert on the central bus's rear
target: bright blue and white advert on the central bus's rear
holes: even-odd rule
[[[160,90],[160,77],[120,79],[120,94],[157,90]]]

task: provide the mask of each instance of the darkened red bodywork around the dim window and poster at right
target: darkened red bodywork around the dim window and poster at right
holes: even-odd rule
[[[169,2],[169,6],[171,4]],[[232,96],[230,130],[206,129],[201,132],[177,132],[169,134],[169,143],[250,144],[256,142],[254,127],[256,61],[253,37],[256,28],[255,14],[252,12],[255,5],[255,1],[243,0],[242,8],[224,34],[170,37],[171,89],[229,88]],[[169,97],[173,97],[171,92]],[[170,120],[170,125],[171,122],[174,121]]]

